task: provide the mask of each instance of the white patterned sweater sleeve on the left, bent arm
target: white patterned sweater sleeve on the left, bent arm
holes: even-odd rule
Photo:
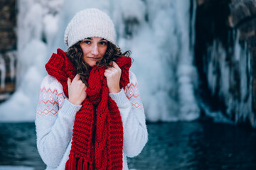
[[[39,94],[35,122],[38,152],[48,167],[55,168],[72,138],[75,114],[81,106],[70,103],[63,86],[49,75],[43,79]]]

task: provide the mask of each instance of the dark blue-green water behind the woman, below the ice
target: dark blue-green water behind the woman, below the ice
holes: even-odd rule
[[[256,169],[256,131],[220,123],[148,124],[149,142],[130,169]],[[45,169],[33,123],[0,123],[0,165]]]

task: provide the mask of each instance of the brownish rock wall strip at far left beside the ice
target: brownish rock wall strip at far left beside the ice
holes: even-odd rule
[[[16,1],[0,2],[0,102],[15,90]]]

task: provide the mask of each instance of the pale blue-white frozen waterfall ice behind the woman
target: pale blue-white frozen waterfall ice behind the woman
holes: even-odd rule
[[[190,6],[187,0],[18,0],[18,89],[1,103],[1,121],[34,120],[44,64],[58,47],[67,50],[65,27],[84,8],[110,15],[117,44],[132,51],[146,119],[195,120],[200,111]]]

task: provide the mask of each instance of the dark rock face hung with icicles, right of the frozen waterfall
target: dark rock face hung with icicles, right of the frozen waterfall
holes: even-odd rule
[[[256,128],[256,1],[198,0],[200,96],[211,111]]]

